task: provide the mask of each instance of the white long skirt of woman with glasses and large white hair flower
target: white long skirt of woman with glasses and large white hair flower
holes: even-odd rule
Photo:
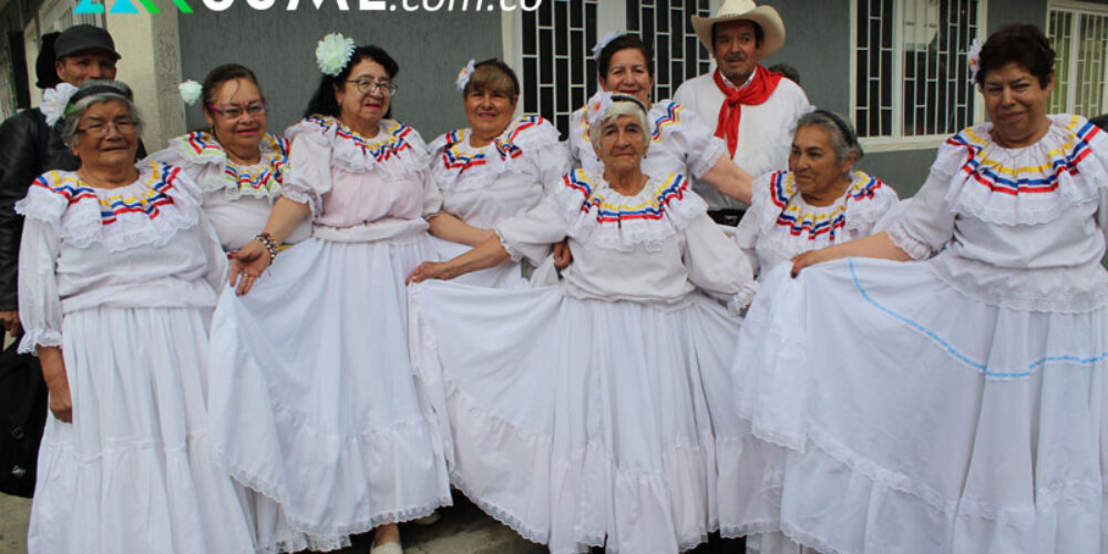
[[[232,474],[257,505],[261,546],[330,550],[350,534],[450,504],[433,417],[412,375],[404,278],[435,259],[425,234],[307,239],[212,326],[211,412]],[[285,523],[307,534],[293,541]],[[268,530],[268,531],[266,531]],[[276,531],[274,531],[276,530]],[[273,544],[276,541],[277,544]]]

